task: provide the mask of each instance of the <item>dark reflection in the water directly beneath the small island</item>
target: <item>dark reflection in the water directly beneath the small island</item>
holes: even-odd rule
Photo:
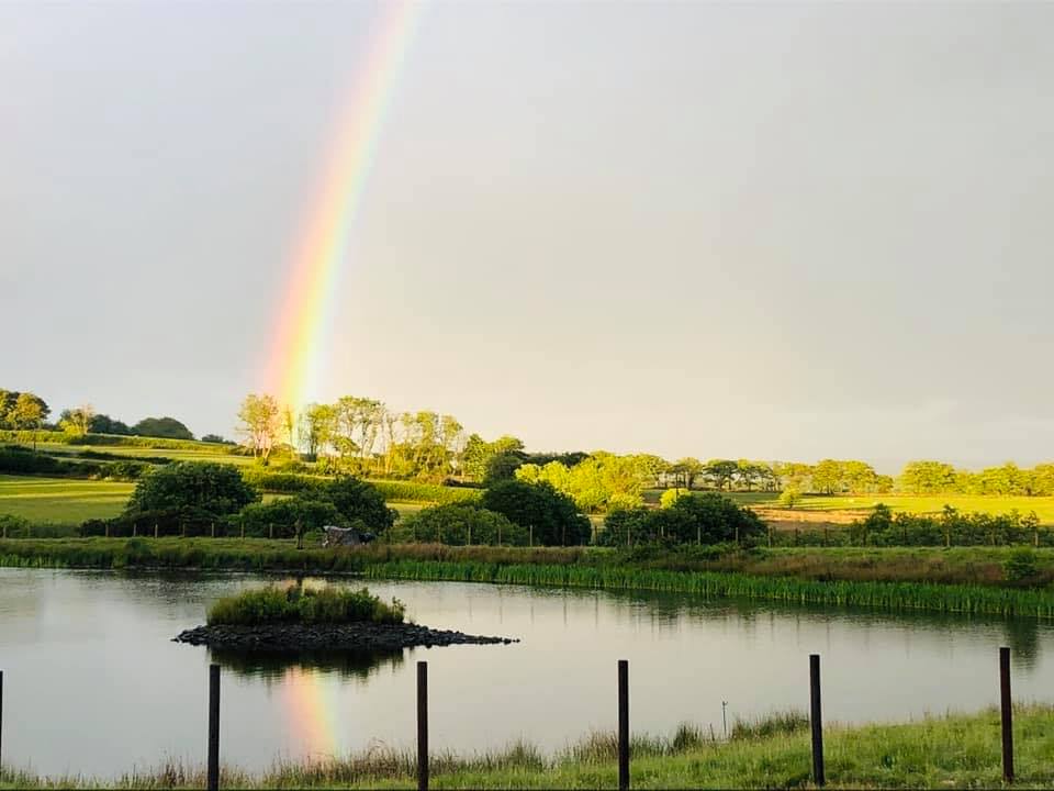
[[[212,661],[238,676],[281,679],[290,668],[337,673],[345,679],[365,681],[385,665],[401,666],[403,649],[363,651],[246,651],[209,649]]]

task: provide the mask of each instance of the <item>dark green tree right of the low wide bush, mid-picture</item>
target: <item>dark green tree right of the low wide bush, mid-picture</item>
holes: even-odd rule
[[[546,546],[575,546],[590,542],[590,521],[574,501],[548,483],[502,481],[485,492],[480,504],[534,531],[534,542]]]

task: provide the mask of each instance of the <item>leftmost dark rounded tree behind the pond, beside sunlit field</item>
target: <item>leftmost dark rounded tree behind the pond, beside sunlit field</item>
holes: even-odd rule
[[[126,512],[199,509],[217,516],[259,500],[233,465],[172,461],[139,480]]]

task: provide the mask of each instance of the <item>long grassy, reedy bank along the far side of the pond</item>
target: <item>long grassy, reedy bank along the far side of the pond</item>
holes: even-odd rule
[[[874,570],[918,553],[996,557],[998,549],[755,550],[714,548],[617,553],[584,548],[371,545],[298,550],[292,542],[236,538],[69,538],[0,541],[0,565],[21,567],[229,569],[354,572],[369,578],[496,582],[650,590],[705,598],[743,598],[887,611],[930,611],[1054,619],[1054,588],[957,580],[836,579],[818,569]],[[1001,553],[1003,556],[1006,553]],[[827,556],[827,557],[825,557]],[[986,562],[993,562],[990,559]],[[1050,566],[1051,552],[1044,555]],[[846,565],[848,564],[848,565]],[[796,568],[797,572],[788,570]],[[924,570],[924,567],[923,567]]]

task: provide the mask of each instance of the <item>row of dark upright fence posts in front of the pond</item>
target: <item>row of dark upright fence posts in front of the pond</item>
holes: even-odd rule
[[[618,789],[628,791],[630,783],[629,737],[629,661],[619,659],[618,668]],[[999,708],[1002,755],[1002,778],[1013,782],[1013,709],[1010,694],[1010,649],[999,648]],[[820,694],[820,655],[809,655],[809,725],[811,732],[812,782],[827,783],[823,764],[823,714]],[[3,753],[3,671],[0,670],[0,759]],[[428,662],[417,662],[417,789],[428,790]],[[209,666],[208,716],[209,791],[220,789],[220,666]]]

